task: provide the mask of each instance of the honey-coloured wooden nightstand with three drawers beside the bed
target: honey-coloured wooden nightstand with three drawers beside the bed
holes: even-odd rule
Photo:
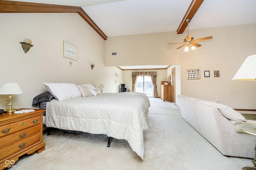
[[[21,108],[18,110],[23,110]],[[0,170],[10,168],[20,156],[42,152],[43,113],[45,110],[34,109],[29,113],[0,115]]]

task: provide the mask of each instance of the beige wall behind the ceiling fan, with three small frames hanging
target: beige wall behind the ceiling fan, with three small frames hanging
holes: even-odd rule
[[[184,52],[179,45],[186,32],[175,31],[141,35],[108,37],[105,44],[106,66],[128,65],[180,65],[181,94],[213,101],[239,109],[256,109],[256,84],[251,81],[234,81],[233,76],[249,55],[256,54],[256,24],[234,25],[207,29],[192,29],[195,38],[213,36],[210,41],[199,42],[195,51]],[[117,56],[112,56],[117,52]],[[200,80],[187,80],[186,70],[200,69]],[[204,77],[210,70],[210,77]],[[220,70],[214,78],[213,71]],[[165,74],[166,75],[166,74]]]

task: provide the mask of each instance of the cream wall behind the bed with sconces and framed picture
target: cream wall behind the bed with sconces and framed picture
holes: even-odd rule
[[[105,41],[76,13],[0,14],[0,86],[16,82],[23,94],[13,95],[13,107],[32,108],[32,99],[46,92],[43,82],[104,84],[107,92],[118,92],[115,73],[122,70],[104,66]],[[32,40],[24,53],[19,42]],[[62,55],[62,43],[78,47],[78,61]],[[95,63],[93,70],[91,64]],[[0,95],[6,100],[8,95]],[[0,105],[6,109],[7,104]]]

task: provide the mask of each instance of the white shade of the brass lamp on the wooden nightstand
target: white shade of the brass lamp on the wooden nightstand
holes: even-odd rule
[[[4,83],[0,88],[0,94],[22,94],[22,90],[17,83]]]

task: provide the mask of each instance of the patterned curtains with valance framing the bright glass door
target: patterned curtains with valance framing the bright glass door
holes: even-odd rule
[[[132,92],[136,92],[135,84],[137,82],[138,76],[150,76],[153,88],[153,97],[157,98],[158,94],[156,91],[156,71],[146,71],[146,72],[132,72]]]

